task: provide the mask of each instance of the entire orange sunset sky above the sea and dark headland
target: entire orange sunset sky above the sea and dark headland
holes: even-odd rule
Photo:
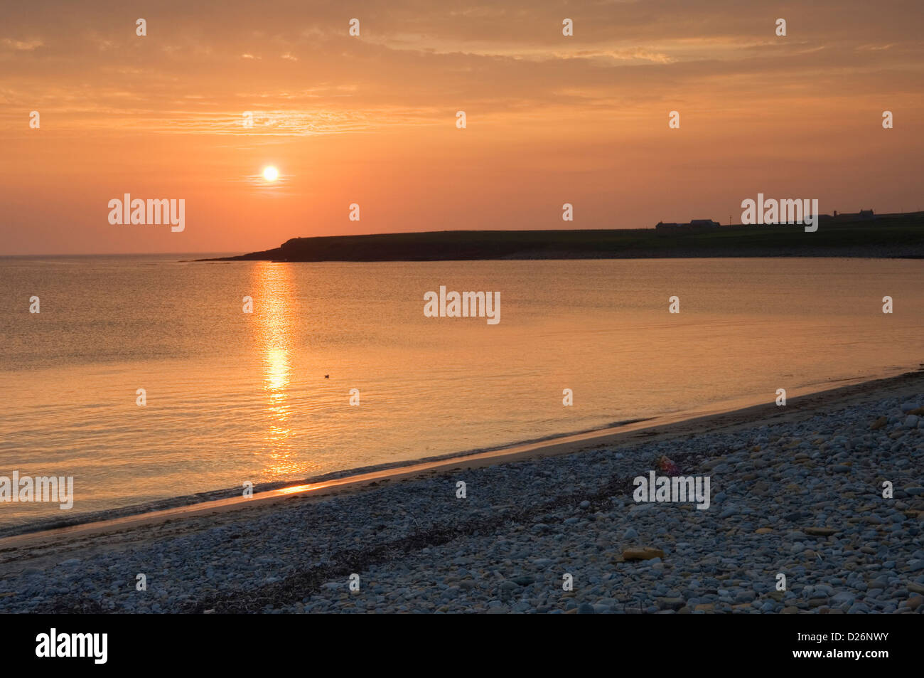
[[[0,255],[913,211],[922,124],[920,0],[5,3]]]

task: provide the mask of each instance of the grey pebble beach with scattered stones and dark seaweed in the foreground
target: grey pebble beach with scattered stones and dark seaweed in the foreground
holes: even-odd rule
[[[0,549],[0,612],[922,613],[917,393]],[[633,500],[662,455],[709,509]]]

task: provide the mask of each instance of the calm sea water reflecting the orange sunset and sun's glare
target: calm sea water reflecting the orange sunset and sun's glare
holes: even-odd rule
[[[440,285],[500,291],[500,324],[424,317]],[[0,475],[73,475],[73,512],[772,401],[924,355],[917,261],[7,258],[0,290]],[[0,503],[0,525],[60,513]]]

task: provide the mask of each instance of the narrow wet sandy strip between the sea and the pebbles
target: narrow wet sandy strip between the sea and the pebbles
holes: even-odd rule
[[[631,446],[643,441],[669,440],[711,430],[734,431],[749,425],[797,421],[818,409],[844,406],[862,400],[870,393],[891,392],[898,397],[924,390],[924,368],[877,379],[846,378],[835,388],[820,385],[794,388],[787,392],[787,404],[777,407],[770,400],[742,397],[653,417],[630,419],[600,428],[521,441],[486,450],[466,450],[435,457],[402,462],[386,462],[367,467],[344,469],[293,481],[262,483],[253,496],[244,498],[237,487],[209,490],[194,495],[160,499],[117,509],[90,512],[70,519],[51,519],[0,529],[0,552],[6,548],[55,538],[100,535],[161,524],[166,521],[238,510],[261,510],[286,499],[316,499],[339,493],[356,492],[380,483],[446,473],[451,469],[471,469],[511,462],[533,461],[550,456],[573,454],[604,446]],[[827,384],[825,384],[827,385]]]

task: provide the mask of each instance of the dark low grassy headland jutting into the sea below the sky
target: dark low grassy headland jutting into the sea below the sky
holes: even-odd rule
[[[456,230],[294,238],[232,260],[438,261],[659,257],[924,257],[924,213],[802,226],[726,226],[659,235],[653,228]]]

